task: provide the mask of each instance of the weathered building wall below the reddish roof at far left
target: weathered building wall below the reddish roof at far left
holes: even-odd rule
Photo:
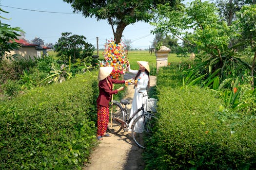
[[[38,51],[36,50],[35,47],[21,47],[19,50],[10,51],[7,54],[8,55],[18,54],[25,59],[29,59],[29,56],[31,57],[31,59],[34,59],[35,57],[36,58],[40,57],[38,56]]]

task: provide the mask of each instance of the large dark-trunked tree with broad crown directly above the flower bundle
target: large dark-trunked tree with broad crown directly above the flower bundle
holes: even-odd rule
[[[175,8],[180,0],[63,0],[70,3],[74,12],[84,17],[95,16],[97,20],[107,19],[112,27],[114,39],[119,43],[124,28],[138,21],[149,22],[154,17],[158,4],[169,3]],[[115,27],[116,26],[116,30]]]

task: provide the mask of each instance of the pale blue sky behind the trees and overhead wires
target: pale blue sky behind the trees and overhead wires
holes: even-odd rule
[[[71,32],[84,35],[86,41],[95,47],[98,37],[99,48],[104,48],[106,39],[114,38],[111,26],[106,20],[97,21],[94,17],[85,18],[82,14],[73,14],[71,4],[62,0],[0,0],[0,5],[4,11],[9,12],[1,13],[0,16],[10,19],[1,19],[1,22],[11,27],[20,27],[25,32],[25,39],[29,41],[39,37],[44,44],[55,44],[61,33]],[[155,37],[150,33],[153,29],[149,23],[143,22],[128,25],[124,29],[122,39],[132,40],[132,48],[149,48]]]

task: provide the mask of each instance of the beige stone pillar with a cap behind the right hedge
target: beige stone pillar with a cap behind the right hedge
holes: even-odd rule
[[[170,49],[166,46],[161,46],[161,48],[156,51],[156,57],[157,57],[157,70],[160,67],[164,67],[168,65],[168,54],[170,53]]]

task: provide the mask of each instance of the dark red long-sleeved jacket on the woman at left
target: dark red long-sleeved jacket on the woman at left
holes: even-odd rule
[[[111,88],[107,84],[106,79],[103,79],[98,82],[98,89],[99,89],[99,94],[98,94],[98,99],[97,99],[97,104],[107,107],[109,105],[109,102],[111,101],[111,96],[112,94],[117,94],[118,90],[113,90],[113,83],[114,84],[121,84],[125,83],[124,80],[115,80],[111,79],[110,77],[107,77],[108,82],[111,85]]]

